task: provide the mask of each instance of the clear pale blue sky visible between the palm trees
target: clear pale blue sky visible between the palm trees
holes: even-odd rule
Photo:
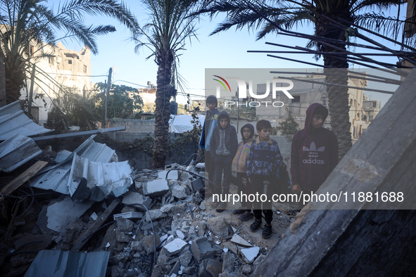
[[[130,10],[139,18],[139,22],[144,25],[148,20],[146,11],[141,8],[139,1],[127,1]],[[391,12],[395,14],[396,12]],[[111,24],[117,29],[117,32],[101,36],[97,39],[99,45],[99,54],[92,55],[92,75],[108,75],[110,67],[114,67],[115,84],[126,84],[133,87],[146,86],[148,81],[156,85],[157,66],[153,58],[146,60],[150,55],[149,49],[142,48],[139,52],[134,53],[134,42],[130,39],[130,32],[125,27],[118,24],[112,19],[96,20],[94,18],[86,18],[87,24]],[[187,42],[186,51],[182,52],[179,60],[179,73],[187,80],[187,89],[185,93],[204,96],[204,74],[205,68],[304,68],[311,67],[300,63],[280,60],[276,58],[267,57],[265,53],[247,53],[248,50],[281,50],[290,51],[290,49],[283,49],[276,46],[266,45],[265,42],[273,42],[277,44],[286,44],[290,46],[305,46],[307,40],[295,39],[286,36],[276,36],[275,34],[268,35],[265,39],[256,41],[256,34],[244,30],[235,30],[235,28],[208,36],[210,32],[215,29],[220,18],[215,18],[213,21],[206,18],[196,24],[198,30],[198,39],[193,38],[191,43]],[[301,30],[298,30],[298,32]],[[309,34],[313,33],[313,27],[304,26],[303,31]],[[374,38],[373,38],[374,39]],[[360,41],[357,41],[360,42]],[[70,49],[80,50],[82,46],[74,44],[71,41],[63,42],[65,46]],[[394,49],[399,49],[398,46],[393,46],[384,41],[384,44]],[[356,52],[362,52],[363,49],[357,49]],[[303,60],[310,63],[320,63],[322,60],[316,62],[313,55],[295,56],[293,54],[283,54],[287,58],[303,58]],[[378,58],[379,59],[379,58]],[[390,62],[396,63],[397,58],[389,58]],[[360,68],[360,66],[356,66]],[[92,82],[104,82],[106,77],[92,77]],[[141,86],[139,86],[141,85]],[[366,93],[368,94],[368,93]],[[389,95],[370,93],[373,100],[382,101],[386,103]],[[196,96],[191,96],[192,99],[197,99]],[[177,96],[179,103],[186,102],[184,96]]]

